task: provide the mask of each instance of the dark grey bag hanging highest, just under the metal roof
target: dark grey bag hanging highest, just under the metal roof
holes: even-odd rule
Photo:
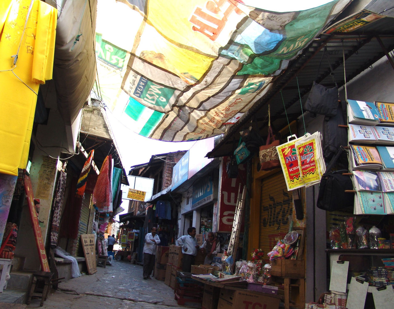
[[[326,47],[324,47],[322,59],[320,60],[318,73],[316,74],[315,80],[318,79],[320,65],[322,64],[323,57],[325,55]],[[326,54],[327,56],[327,54]],[[336,111],[338,109],[338,85],[335,82],[333,68],[331,67],[330,60],[327,56],[327,60],[331,70],[331,76],[333,77],[333,81],[335,83],[335,87],[327,88],[323,85],[316,83],[315,81],[312,84],[312,88],[310,89],[307,102],[305,102],[304,109],[312,114],[320,114],[329,117],[333,117],[336,115]]]

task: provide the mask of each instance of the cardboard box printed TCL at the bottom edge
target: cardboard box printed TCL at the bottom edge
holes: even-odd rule
[[[278,309],[279,296],[267,296],[249,290],[221,289],[217,309]]]

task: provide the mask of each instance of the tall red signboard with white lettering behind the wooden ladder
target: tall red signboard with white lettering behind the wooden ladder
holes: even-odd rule
[[[221,179],[221,196],[219,205],[219,220],[217,232],[231,233],[232,223],[234,222],[235,207],[237,204],[238,189],[241,184],[241,190],[243,185],[246,184],[246,170],[245,165],[238,165],[238,176],[237,178],[229,178],[226,172],[226,165],[229,162],[230,157],[223,158],[223,173]],[[244,214],[243,214],[244,215]],[[241,232],[244,227],[244,216],[242,218]]]

